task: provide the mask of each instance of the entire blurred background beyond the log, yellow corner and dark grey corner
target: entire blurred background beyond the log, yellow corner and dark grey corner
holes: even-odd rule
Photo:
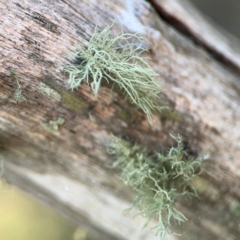
[[[240,1],[191,2],[240,39]],[[9,185],[0,187],[0,212],[1,240],[90,240],[81,226]]]

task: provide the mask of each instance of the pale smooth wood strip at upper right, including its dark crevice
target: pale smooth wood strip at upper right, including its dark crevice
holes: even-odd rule
[[[239,41],[199,13],[186,0],[151,0],[154,7],[167,22],[195,43],[203,46],[218,60],[239,72]]]

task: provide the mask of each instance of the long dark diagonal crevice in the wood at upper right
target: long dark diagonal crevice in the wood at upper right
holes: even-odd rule
[[[189,38],[192,42],[194,42],[196,45],[202,47],[205,49],[215,60],[217,60],[219,63],[223,64],[230,70],[234,71],[237,74],[240,74],[240,69],[236,64],[229,59],[227,56],[222,54],[221,52],[217,51],[216,49],[213,49],[210,45],[208,45],[206,42],[203,42],[201,39],[199,39],[192,31],[189,29],[183,22],[181,22],[178,18],[176,18],[174,15],[169,14],[165,11],[164,8],[159,6],[158,4],[155,4],[154,1],[148,0],[152,6],[156,9],[158,15],[160,18],[165,21],[167,24],[171,25],[174,29],[176,29],[178,32]]]

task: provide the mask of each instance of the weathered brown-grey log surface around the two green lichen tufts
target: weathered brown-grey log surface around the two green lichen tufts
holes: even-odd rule
[[[168,239],[238,239],[239,45],[209,30],[199,14],[182,11],[192,9],[185,2],[150,2],[0,1],[4,178],[83,224],[95,239],[154,239],[154,231],[141,229],[141,216],[123,214],[133,193],[107,167],[114,159],[105,146],[114,134],[159,151],[173,144],[169,133],[180,134],[191,155],[207,152],[212,165],[195,183],[199,199],[178,203],[189,219],[177,230],[182,235]],[[97,100],[87,86],[67,88],[61,69],[74,47],[114,19],[115,32],[139,32],[149,41],[149,64],[166,91],[162,102],[173,109],[155,115],[152,126],[111,85],[101,87]],[[14,98],[16,73],[26,102]],[[42,94],[43,83],[57,97]],[[59,117],[65,123],[51,131],[49,121]]]

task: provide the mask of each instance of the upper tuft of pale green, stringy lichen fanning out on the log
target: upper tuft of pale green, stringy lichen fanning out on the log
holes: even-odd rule
[[[74,89],[85,82],[97,96],[102,80],[112,81],[151,122],[153,112],[161,110],[157,99],[162,89],[156,81],[157,73],[141,56],[146,49],[134,44],[134,41],[142,44],[145,39],[130,33],[113,37],[111,28],[112,25],[103,31],[96,28],[87,47],[77,49],[75,64],[64,67],[69,73],[68,84]]]

